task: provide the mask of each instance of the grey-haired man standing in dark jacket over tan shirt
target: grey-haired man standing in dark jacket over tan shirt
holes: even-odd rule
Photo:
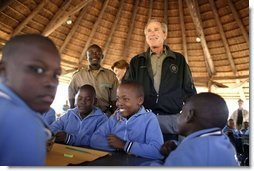
[[[131,59],[123,82],[134,80],[143,84],[144,106],[157,114],[164,140],[177,140],[178,114],[185,99],[197,93],[191,71],[184,56],[164,44],[165,23],[151,19],[144,32],[149,48]]]

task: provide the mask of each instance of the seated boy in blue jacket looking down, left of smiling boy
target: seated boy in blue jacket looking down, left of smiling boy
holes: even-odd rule
[[[74,146],[89,146],[94,131],[108,117],[95,107],[96,92],[93,86],[83,85],[77,95],[77,107],[69,109],[50,125],[56,135],[55,142]]]

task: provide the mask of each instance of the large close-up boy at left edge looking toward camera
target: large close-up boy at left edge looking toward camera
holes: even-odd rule
[[[11,38],[0,61],[0,165],[44,165],[50,131],[39,113],[53,102],[61,74],[54,43],[37,34]]]

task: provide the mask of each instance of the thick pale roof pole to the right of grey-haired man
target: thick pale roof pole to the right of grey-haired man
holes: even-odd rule
[[[197,30],[197,35],[201,39],[201,46],[202,46],[203,52],[204,52],[204,60],[206,63],[207,72],[208,72],[209,76],[212,77],[212,75],[216,74],[216,71],[214,69],[213,60],[212,60],[211,54],[209,52],[209,49],[208,49],[208,46],[206,43],[205,34],[204,34],[203,27],[202,27],[202,21],[200,18],[200,13],[198,11],[198,6],[195,4],[196,0],[185,0],[185,2],[189,8],[192,20],[195,24],[195,27]]]

